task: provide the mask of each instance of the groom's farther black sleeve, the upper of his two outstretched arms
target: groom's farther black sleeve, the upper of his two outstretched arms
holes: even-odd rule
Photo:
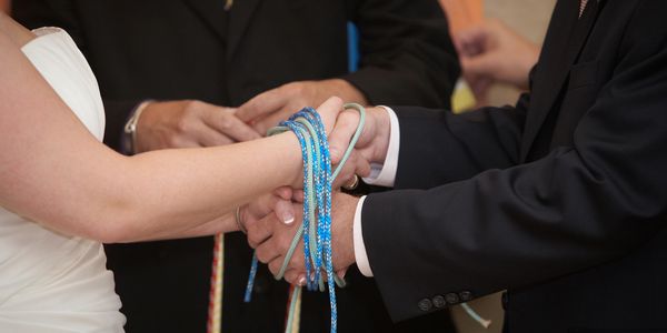
[[[401,135],[394,188],[428,189],[517,164],[528,100],[526,93],[515,108],[485,108],[459,115],[394,108]]]

